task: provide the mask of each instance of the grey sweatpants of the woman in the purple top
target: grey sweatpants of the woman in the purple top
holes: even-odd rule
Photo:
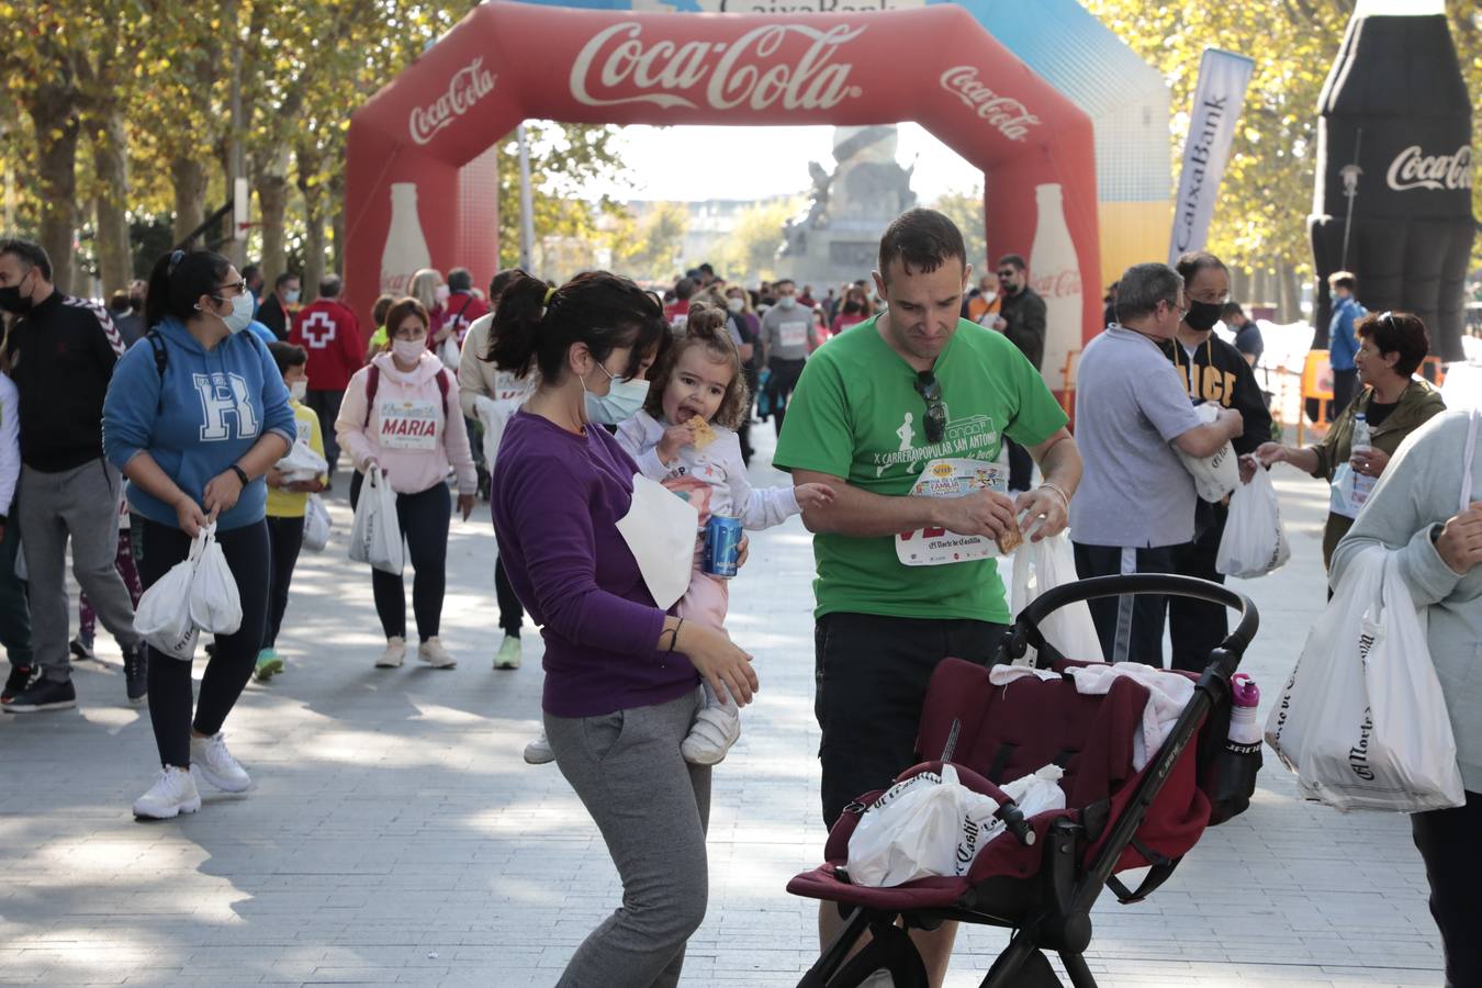
[[[705,918],[710,767],[679,745],[698,689],[602,717],[545,714],[556,764],[576,790],[622,878],[622,905],[571,958],[557,988],[674,988],[685,942]]]

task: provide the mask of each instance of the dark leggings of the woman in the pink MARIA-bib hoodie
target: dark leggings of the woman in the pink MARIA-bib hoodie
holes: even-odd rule
[[[350,480],[350,508],[360,501],[365,474]],[[437,637],[443,619],[443,590],[448,584],[448,526],[453,517],[453,501],[448,486],[436,483],[415,495],[396,495],[396,520],[406,538],[406,553],[416,575],[412,578],[412,613],[416,634],[422,641]],[[375,612],[387,638],[406,637],[406,588],[400,576],[385,570],[370,570],[375,591]]]

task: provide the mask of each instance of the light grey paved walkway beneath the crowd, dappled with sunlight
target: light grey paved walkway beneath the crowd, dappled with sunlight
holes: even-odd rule
[[[1294,558],[1242,585],[1261,612],[1246,668],[1267,698],[1323,600],[1323,489],[1277,478]],[[111,643],[76,674],[79,710],[0,720],[0,982],[547,987],[617,904],[569,787],[520,760],[538,640],[526,634],[525,668],[489,668],[488,523],[453,523],[443,640],[459,668],[387,671],[372,668],[369,575],[344,558],[348,510],[333,508],[330,548],[299,563],[289,671],[249,686],[227,726],[249,794],[133,822],[156,754]],[[756,538],[735,582],[731,631],[763,692],[716,772],[711,905],[685,985],[794,985],[815,957],[817,908],[782,890],[823,846],[811,578],[794,518]],[[1441,984],[1408,822],[1303,804],[1272,761],[1251,810],[1209,831],[1152,899],[1103,898],[1089,960],[1104,985]],[[966,930],[948,984],[977,985],[1003,941]]]

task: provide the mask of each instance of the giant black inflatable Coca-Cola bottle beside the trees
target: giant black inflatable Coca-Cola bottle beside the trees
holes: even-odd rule
[[[1443,0],[1359,0],[1319,113],[1315,345],[1328,339],[1326,278],[1349,270],[1371,313],[1415,313],[1432,351],[1460,358],[1472,102]]]

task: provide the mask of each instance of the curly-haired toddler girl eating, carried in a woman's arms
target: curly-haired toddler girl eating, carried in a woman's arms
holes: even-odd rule
[[[700,510],[701,532],[711,514],[738,518],[745,529],[769,529],[803,508],[828,504],[834,492],[827,484],[751,487],[735,433],[747,415],[748,394],[725,318],[713,305],[689,310],[683,335],[654,375],[643,410],[618,427],[618,443],[645,477]],[[679,616],[722,628],[728,600],[726,581],[700,569],[697,539],[695,570]],[[685,760],[716,764],[740,736],[735,701],[717,696],[707,683],[705,708],[680,747]]]

